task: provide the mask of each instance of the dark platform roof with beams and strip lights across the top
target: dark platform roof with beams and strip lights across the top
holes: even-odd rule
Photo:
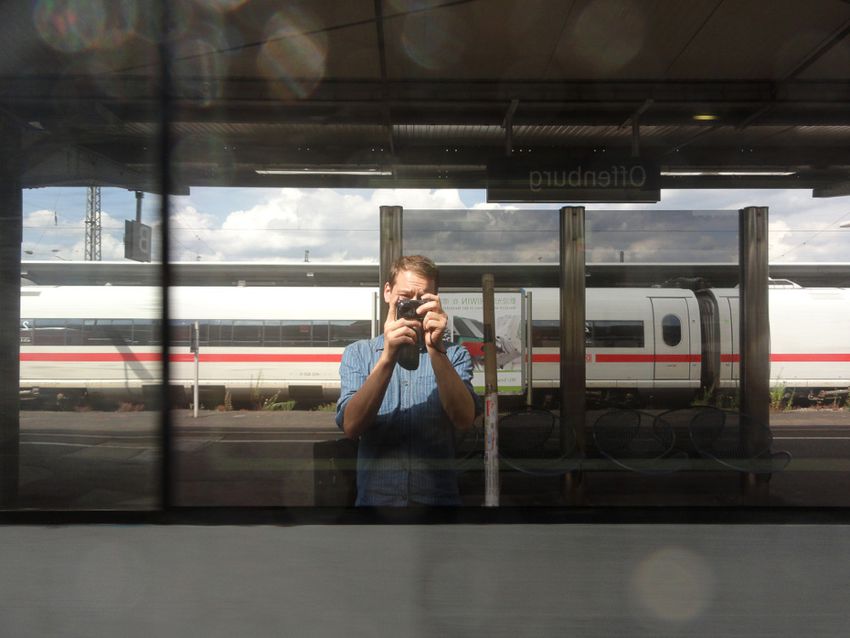
[[[482,188],[493,159],[609,153],[662,188],[850,193],[842,0],[168,6],[163,65],[158,2],[0,5],[25,187],[156,192],[165,117],[173,192]]]

